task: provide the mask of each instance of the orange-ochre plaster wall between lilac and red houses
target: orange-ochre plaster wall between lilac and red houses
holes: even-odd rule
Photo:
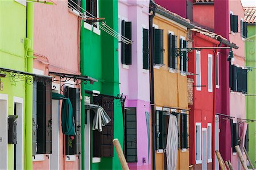
[[[177,36],[178,45],[180,36],[187,39],[187,28],[158,14],[155,15],[153,23],[159,26],[159,29],[164,30],[163,44],[165,52],[163,64],[168,65],[168,31],[173,31]],[[179,69],[179,59],[177,61]],[[188,109],[187,76],[180,73],[170,73],[168,69],[164,68],[154,68],[154,88],[156,106]],[[177,167],[187,169],[189,166],[189,151],[181,152],[179,149],[178,152]],[[163,169],[163,156],[162,153],[156,152],[156,169]]]

